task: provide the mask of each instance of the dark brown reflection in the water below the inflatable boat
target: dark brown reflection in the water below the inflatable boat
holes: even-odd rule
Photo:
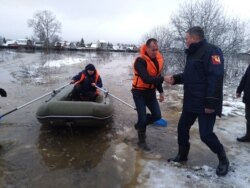
[[[90,170],[102,160],[109,147],[109,128],[51,127],[43,125],[38,150],[51,170],[81,168]]]

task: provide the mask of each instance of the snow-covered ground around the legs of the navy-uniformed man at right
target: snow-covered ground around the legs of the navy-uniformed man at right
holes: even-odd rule
[[[228,97],[223,101],[223,118],[215,126],[216,134],[226,143],[230,160],[229,173],[225,177],[218,177],[215,173],[216,166],[208,166],[206,161],[202,166],[190,166],[188,162],[180,165],[166,160],[141,160],[143,170],[137,178],[137,187],[250,187],[250,144],[236,141],[238,136],[245,133],[245,119],[242,117],[245,105],[241,100]]]

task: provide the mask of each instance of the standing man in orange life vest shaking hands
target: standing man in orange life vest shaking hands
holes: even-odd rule
[[[138,132],[138,146],[144,151],[150,148],[146,143],[146,126],[161,119],[161,111],[156,99],[157,89],[160,93],[160,102],[164,100],[162,83],[165,79],[161,72],[164,60],[158,51],[157,40],[148,39],[140,49],[140,56],[134,62],[132,94],[135,102],[138,121],[135,129]],[[151,114],[146,113],[146,107]]]

